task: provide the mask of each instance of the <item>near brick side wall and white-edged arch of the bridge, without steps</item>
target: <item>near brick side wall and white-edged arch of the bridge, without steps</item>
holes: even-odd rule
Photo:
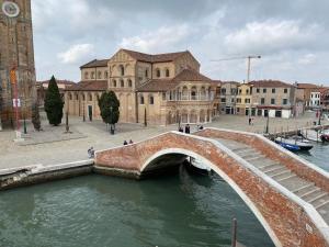
[[[196,135],[207,136],[208,131]],[[212,136],[219,132],[211,131]],[[237,135],[234,132],[232,134]],[[168,164],[181,162],[186,156],[197,158],[239,194],[275,246],[329,246],[328,225],[313,206],[263,176],[220,142],[196,135],[169,132],[134,145],[98,151],[95,170],[139,178],[144,173],[162,169]],[[260,136],[246,135],[264,142]]]

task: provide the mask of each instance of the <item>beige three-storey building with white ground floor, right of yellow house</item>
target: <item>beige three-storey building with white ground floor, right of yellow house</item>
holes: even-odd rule
[[[259,116],[288,119],[294,114],[295,87],[279,80],[249,82],[252,87],[252,111]]]

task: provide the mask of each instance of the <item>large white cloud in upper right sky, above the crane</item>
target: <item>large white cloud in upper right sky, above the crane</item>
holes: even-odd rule
[[[225,45],[231,52],[273,54],[306,48],[317,41],[318,33],[316,24],[302,26],[299,21],[268,20],[247,23],[243,29],[229,33]]]

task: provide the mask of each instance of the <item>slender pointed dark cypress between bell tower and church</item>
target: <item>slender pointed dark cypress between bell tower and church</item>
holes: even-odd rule
[[[63,108],[64,108],[64,102],[59,94],[56,79],[53,76],[49,81],[48,89],[45,97],[45,111],[47,113],[47,119],[49,121],[49,124],[57,126],[61,123]]]

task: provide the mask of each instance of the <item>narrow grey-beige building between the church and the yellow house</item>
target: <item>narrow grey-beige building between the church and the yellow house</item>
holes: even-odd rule
[[[237,113],[237,81],[223,81],[220,83],[220,113],[222,114],[236,114]]]

